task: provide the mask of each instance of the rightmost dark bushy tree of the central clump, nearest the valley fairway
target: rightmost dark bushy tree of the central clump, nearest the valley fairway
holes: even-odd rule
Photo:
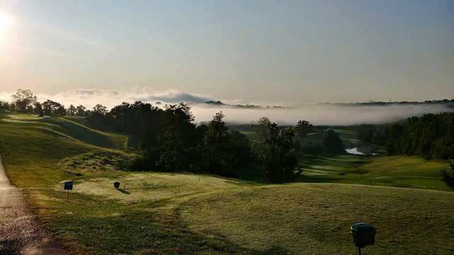
[[[273,183],[292,181],[298,163],[293,149],[294,131],[291,128],[279,130],[276,123],[268,124],[268,130],[262,154],[267,179]]]

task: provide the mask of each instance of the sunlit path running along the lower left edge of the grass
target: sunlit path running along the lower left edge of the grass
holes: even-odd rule
[[[67,254],[39,227],[20,189],[11,185],[0,156],[0,255]]]

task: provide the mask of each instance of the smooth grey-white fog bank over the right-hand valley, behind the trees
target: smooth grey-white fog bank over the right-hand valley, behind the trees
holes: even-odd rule
[[[299,108],[232,108],[192,106],[196,122],[211,120],[214,113],[222,111],[229,124],[254,123],[266,116],[279,125],[295,125],[298,120],[309,120],[314,125],[381,124],[402,120],[425,113],[453,111],[442,104],[406,106],[333,106],[314,105]]]

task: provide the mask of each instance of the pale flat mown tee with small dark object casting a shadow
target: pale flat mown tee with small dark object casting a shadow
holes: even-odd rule
[[[172,203],[176,203],[202,194],[237,190],[248,186],[240,181],[193,174],[131,173],[97,176],[99,175],[79,179],[74,185],[74,191],[116,200],[118,203],[162,200],[172,200]],[[114,181],[121,183],[121,190],[114,189]]]

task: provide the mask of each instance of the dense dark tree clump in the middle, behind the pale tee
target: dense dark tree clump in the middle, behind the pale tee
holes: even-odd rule
[[[237,177],[238,171],[258,167],[270,182],[297,177],[294,129],[279,128],[271,121],[259,122],[263,133],[258,142],[229,129],[222,112],[209,123],[194,124],[194,115],[185,103],[158,108],[141,101],[125,102],[110,111],[97,105],[87,121],[139,141],[140,157],[133,169]]]

